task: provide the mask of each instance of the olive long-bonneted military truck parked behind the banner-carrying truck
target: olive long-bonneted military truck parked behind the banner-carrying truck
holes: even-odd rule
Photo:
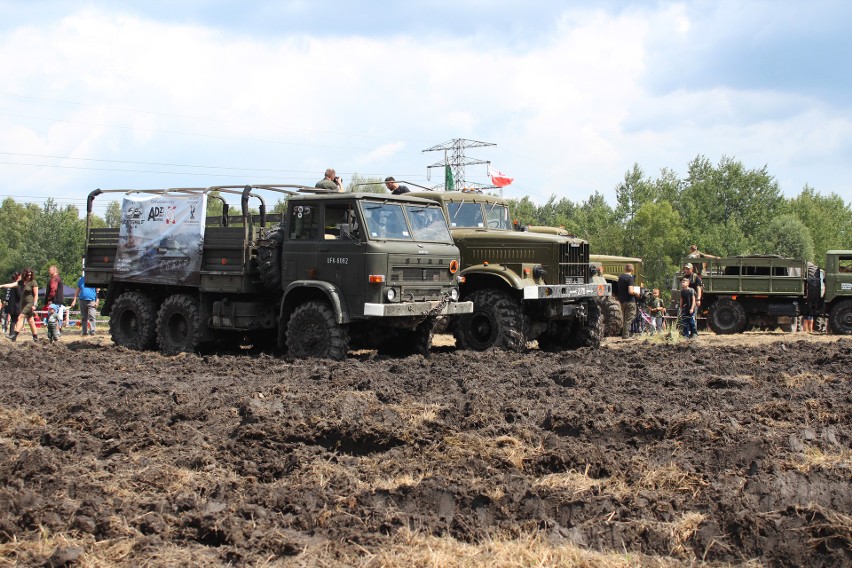
[[[610,294],[594,281],[589,243],[568,235],[518,232],[505,200],[474,192],[421,192],[441,204],[461,253],[462,299],[473,313],[452,325],[456,344],[483,351],[597,347],[598,301]]]

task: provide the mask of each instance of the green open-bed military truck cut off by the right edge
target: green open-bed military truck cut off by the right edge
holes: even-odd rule
[[[833,333],[852,334],[852,251],[828,251],[825,269],[779,256],[702,258],[701,263],[699,313],[715,333],[783,326],[811,314],[826,316]],[[674,288],[679,289],[677,278]]]

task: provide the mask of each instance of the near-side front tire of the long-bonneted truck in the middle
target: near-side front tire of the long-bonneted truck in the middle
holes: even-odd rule
[[[485,351],[499,347],[522,351],[527,344],[524,314],[518,300],[502,290],[477,290],[465,298],[473,302],[473,313],[456,320],[456,345]]]

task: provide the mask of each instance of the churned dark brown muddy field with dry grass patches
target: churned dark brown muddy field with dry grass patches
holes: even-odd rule
[[[0,360],[0,565],[852,563],[848,338]]]

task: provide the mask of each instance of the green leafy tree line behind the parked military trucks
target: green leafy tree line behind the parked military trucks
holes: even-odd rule
[[[355,174],[347,191],[384,193],[383,181]],[[574,202],[551,196],[542,205],[529,197],[509,199],[513,218],[524,225],[564,227],[589,241],[592,253],[640,257],[647,286],[667,289],[690,244],[717,256],[779,254],[823,264],[825,252],[852,249],[852,207],[839,195],[821,195],[805,186],[785,198],[768,169],[748,169],[723,157],[713,164],[698,156],[685,177],[663,169],[658,177],[635,164],[616,186],[611,206],[600,192]],[[271,212],[284,210],[281,200]],[[208,200],[208,215],[221,214],[221,203]],[[121,206],[108,204],[95,227],[117,227]],[[43,206],[6,198],[0,205],[0,279],[31,267],[47,281],[55,264],[66,284],[80,274],[86,221],[74,205],[52,199]]]

